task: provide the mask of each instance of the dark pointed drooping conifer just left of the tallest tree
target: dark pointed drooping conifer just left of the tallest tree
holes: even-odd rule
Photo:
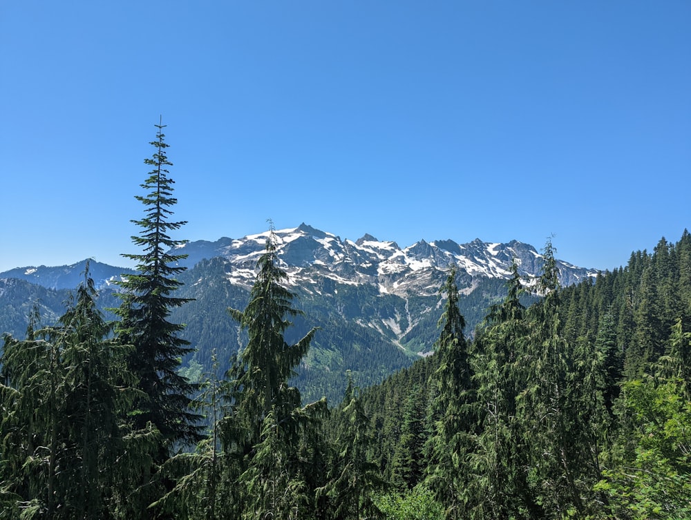
[[[120,437],[122,389],[115,386],[115,378],[126,347],[109,338],[113,327],[97,309],[96,299],[86,262],[75,305],[60,318],[59,328],[53,332],[64,345],[63,442],[70,453],[69,459],[61,462],[61,479],[69,485],[61,507],[64,514],[80,519],[102,518],[108,512],[113,483],[110,472],[124,451]]]

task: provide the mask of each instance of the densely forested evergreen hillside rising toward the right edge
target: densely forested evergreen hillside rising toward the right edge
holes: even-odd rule
[[[453,518],[689,517],[691,235],[593,283],[562,289],[549,264],[541,282],[526,309],[513,278],[472,343],[449,356],[440,338],[363,392],[370,461]]]

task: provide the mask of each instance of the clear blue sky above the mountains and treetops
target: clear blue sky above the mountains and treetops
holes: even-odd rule
[[[0,271],[306,222],[612,269],[691,227],[691,2],[5,1]]]

